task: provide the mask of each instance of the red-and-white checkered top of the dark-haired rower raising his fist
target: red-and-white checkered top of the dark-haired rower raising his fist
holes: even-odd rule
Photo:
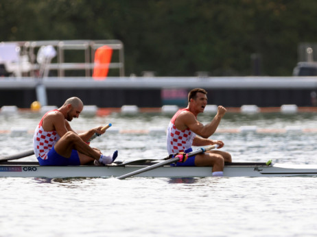
[[[193,138],[196,136],[196,134],[191,132],[188,127],[183,131],[180,131],[176,128],[176,118],[183,111],[189,110],[187,108],[178,110],[178,112],[174,114],[167,127],[167,151],[169,154],[183,152],[191,148],[191,145],[193,144]]]

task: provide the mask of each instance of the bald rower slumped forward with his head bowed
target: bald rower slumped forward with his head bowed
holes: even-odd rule
[[[102,126],[82,134],[73,131],[69,122],[78,118],[84,104],[78,97],[67,99],[62,107],[47,112],[35,129],[34,153],[40,165],[80,165],[94,162],[97,165],[112,163],[117,158],[103,155],[97,148],[89,146],[93,134],[104,134]]]

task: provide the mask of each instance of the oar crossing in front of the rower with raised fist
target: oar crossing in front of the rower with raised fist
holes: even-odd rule
[[[200,148],[197,151],[189,152],[187,155],[188,155],[188,157],[191,157],[193,155],[198,155],[200,153],[204,153],[205,151],[209,151],[209,150],[215,149],[217,147],[219,147],[219,146],[218,145],[212,145],[212,146],[209,146],[209,147]],[[174,158],[171,158],[169,160],[165,160],[165,161],[160,162],[158,164],[153,164],[152,166],[148,166],[148,167],[145,167],[143,169],[139,169],[138,171],[133,171],[131,173],[127,173],[126,175],[121,175],[121,176],[117,177],[117,179],[125,179],[126,177],[130,177],[130,176],[133,176],[133,175],[138,175],[139,173],[144,173],[146,171],[151,171],[152,169],[156,169],[158,167],[164,166],[165,164],[171,164],[173,162],[178,162],[179,159],[180,158],[176,156]]]

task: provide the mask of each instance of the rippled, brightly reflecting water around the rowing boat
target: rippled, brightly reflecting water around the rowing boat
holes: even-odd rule
[[[213,115],[204,114],[207,123]],[[32,148],[39,114],[0,114],[1,155]],[[170,116],[82,116],[83,130],[113,123],[92,142],[119,160],[164,158],[165,134],[117,133],[165,128]],[[219,129],[256,125],[317,128],[317,114],[226,114]],[[235,161],[317,164],[317,133],[217,133]],[[34,157],[24,160],[35,160]],[[0,178],[0,236],[317,236],[316,177],[141,178],[126,180]]]

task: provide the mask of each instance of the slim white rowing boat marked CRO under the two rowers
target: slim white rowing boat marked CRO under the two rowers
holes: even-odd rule
[[[116,162],[108,166],[39,166],[38,162],[1,162],[0,177],[119,177],[157,164],[158,160]],[[210,177],[211,167],[161,166],[139,177]],[[317,176],[317,165],[232,162],[224,166],[225,177]]]

